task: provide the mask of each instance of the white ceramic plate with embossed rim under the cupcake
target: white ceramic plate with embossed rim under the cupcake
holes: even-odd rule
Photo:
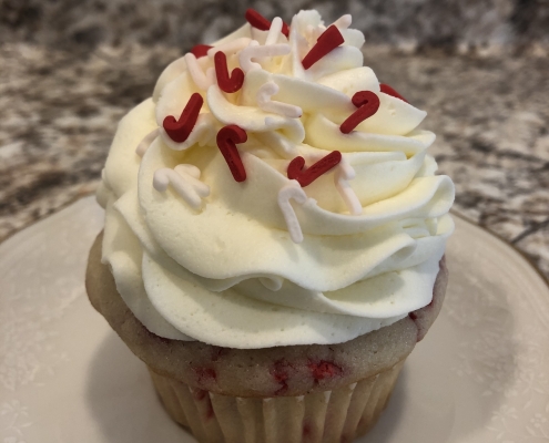
[[[0,442],[192,443],[144,365],[90,306],[93,197],[0,245]],[[362,443],[548,442],[549,289],[456,217],[443,312]]]

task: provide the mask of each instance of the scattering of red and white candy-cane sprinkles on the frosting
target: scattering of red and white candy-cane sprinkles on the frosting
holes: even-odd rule
[[[288,44],[277,43],[279,34],[286,38],[291,35],[291,28],[279,18],[273,21],[267,20],[257,11],[248,9],[245,18],[251,27],[262,31],[268,31],[265,45],[260,45],[256,41],[248,38],[238,38],[217,47],[207,44],[195,45],[190,53],[184,55],[187,72],[194,83],[202,90],[217,84],[218,89],[225,94],[237,93],[243,84],[246,73],[254,69],[262,69],[261,64],[253,62],[253,59],[272,58],[285,55],[291,52]],[[338,25],[346,28],[350,24],[350,17],[344,16],[342,19],[329,25],[317,38],[316,43],[311,48],[302,60],[304,70],[311,69],[315,63],[323,60],[327,54],[345,43],[345,39],[338,29]],[[227,54],[233,55],[238,52],[238,66],[230,70]],[[210,56],[214,59],[214,68],[204,72],[202,58]],[[234,63],[234,58],[231,59]],[[232,64],[234,66],[234,64]],[[394,89],[386,84],[380,85],[382,92],[406,101]],[[267,82],[260,87],[257,92],[257,104],[265,112],[285,115],[292,119],[299,119],[303,114],[298,106],[271,100],[278,92],[278,85],[274,82]],[[364,122],[366,119],[376,114],[379,109],[379,97],[373,91],[359,91],[354,94],[350,102],[356,107],[348,117],[340,124],[339,131],[343,134],[349,134]],[[191,95],[179,117],[167,115],[162,124],[165,134],[176,144],[185,143],[193,132],[196,133],[200,126],[201,110],[204,105],[204,99],[200,93]],[[138,153],[142,156],[146,150],[145,145],[152,143],[157,136],[160,130],[149,134],[138,147]],[[193,136],[197,136],[196,134]],[[233,178],[238,182],[246,181],[246,169],[242,162],[237,145],[246,143],[247,134],[236,124],[223,126],[216,135],[217,147],[223,155]],[[194,138],[189,143],[193,143]],[[288,185],[283,187],[278,194],[278,205],[286,220],[288,231],[295,243],[303,240],[301,226],[295,212],[289,204],[294,199],[298,204],[305,204],[307,196],[302,189],[311,185],[315,179],[336,168],[335,185],[343,199],[345,200],[352,215],[362,214],[362,206],[354,194],[348,181],[355,177],[354,169],[348,165],[339,151],[333,151],[316,163],[306,167],[305,158],[296,156],[287,166]],[[193,208],[200,208],[201,198],[210,194],[210,188],[200,182],[200,171],[192,165],[179,165],[175,169],[159,169],[154,175],[153,185],[159,192],[166,189],[169,183],[182,196],[182,198]]]

